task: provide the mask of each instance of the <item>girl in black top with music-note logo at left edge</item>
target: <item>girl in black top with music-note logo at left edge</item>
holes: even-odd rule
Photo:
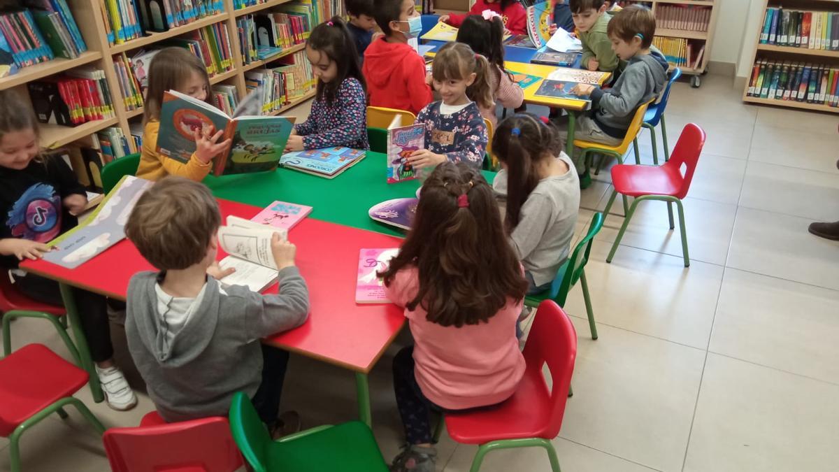
[[[0,92],[0,263],[24,295],[63,306],[57,282],[18,270],[18,262],[40,259],[50,250],[47,242],[74,228],[87,197],[64,160],[39,154],[38,140],[29,103],[10,90]],[[137,397],[113,362],[105,297],[80,289],[73,296],[108,406],[133,408]]]

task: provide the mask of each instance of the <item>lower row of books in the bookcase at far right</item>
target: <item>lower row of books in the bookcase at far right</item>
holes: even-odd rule
[[[839,66],[785,60],[758,60],[747,97],[839,107]]]

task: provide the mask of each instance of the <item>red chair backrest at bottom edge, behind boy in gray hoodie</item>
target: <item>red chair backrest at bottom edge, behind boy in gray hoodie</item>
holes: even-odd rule
[[[243,464],[225,417],[114,427],[102,442],[114,472],[232,472]]]

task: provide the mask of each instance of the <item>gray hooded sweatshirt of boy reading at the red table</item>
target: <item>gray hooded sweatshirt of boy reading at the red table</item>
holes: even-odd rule
[[[128,350],[160,416],[168,422],[227,416],[232,396],[253,396],[262,380],[259,339],[295,328],[309,312],[300,271],[279,271],[279,294],[222,286],[207,277],[190,318],[169,333],[154,287],[164,273],[141,272],[128,284]]]

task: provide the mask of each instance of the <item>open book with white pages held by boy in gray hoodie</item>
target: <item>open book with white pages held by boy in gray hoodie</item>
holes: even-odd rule
[[[274,233],[286,239],[283,228],[254,223],[244,218],[227,217],[227,226],[218,229],[218,244],[229,254],[218,264],[236,269],[221,279],[227,285],[247,286],[251,291],[263,291],[277,281],[277,265],[271,253]]]

